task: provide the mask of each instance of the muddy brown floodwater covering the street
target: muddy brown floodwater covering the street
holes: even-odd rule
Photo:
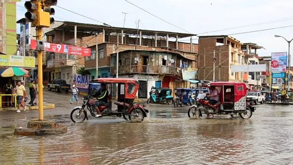
[[[188,119],[186,109],[172,108],[143,123],[51,115],[66,118],[67,134],[21,137],[0,128],[0,164],[293,164],[293,106],[258,107],[248,120]]]

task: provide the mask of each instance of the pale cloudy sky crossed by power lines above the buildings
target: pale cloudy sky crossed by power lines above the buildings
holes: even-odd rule
[[[74,3],[73,1],[76,1]],[[139,9],[145,9],[161,19]],[[125,27],[139,27],[148,30],[194,33],[200,35],[229,35],[269,28],[291,26],[267,31],[231,35],[242,43],[252,42],[265,49],[258,50],[259,56],[270,56],[272,52],[288,52],[287,40],[293,38],[293,1],[291,0],[58,0],[57,6],[69,9],[97,21],[73,14],[56,6],[55,20],[81,23],[102,24],[122,27],[127,12]],[[25,1],[17,2],[17,20],[24,17]],[[53,16],[54,17],[54,16]],[[178,28],[180,27],[180,28]],[[182,30],[183,29],[183,30]],[[224,29],[224,30],[223,30]],[[225,30],[226,29],[226,30]],[[216,32],[214,32],[216,31]],[[17,26],[17,32],[20,32]],[[194,37],[194,43],[197,43]],[[189,38],[179,39],[189,42]],[[292,42],[293,43],[293,42]],[[293,44],[290,50],[293,52]],[[292,59],[292,58],[291,58]],[[291,60],[291,65],[293,59]]]

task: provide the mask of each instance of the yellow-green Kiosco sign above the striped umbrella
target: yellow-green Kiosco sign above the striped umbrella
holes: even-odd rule
[[[0,66],[35,68],[35,57],[0,55]]]

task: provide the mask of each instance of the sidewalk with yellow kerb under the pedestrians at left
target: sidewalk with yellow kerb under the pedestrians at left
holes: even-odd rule
[[[26,89],[26,97],[27,97],[27,102],[25,102],[26,106],[27,106],[27,110],[38,110],[39,106],[31,106],[28,103],[31,101],[31,96],[29,94],[29,88],[28,86],[25,87]],[[55,108],[55,104],[53,103],[47,103],[45,101],[43,101],[43,109],[54,109]],[[16,111],[17,108],[15,107],[9,107],[9,108],[0,108],[0,111]],[[23,110],[23,108],[21,108],[20,110]]]

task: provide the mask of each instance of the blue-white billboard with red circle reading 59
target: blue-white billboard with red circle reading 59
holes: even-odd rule
[[[272,72],[286,72],[287,52],[272,53],[271,55]]]

